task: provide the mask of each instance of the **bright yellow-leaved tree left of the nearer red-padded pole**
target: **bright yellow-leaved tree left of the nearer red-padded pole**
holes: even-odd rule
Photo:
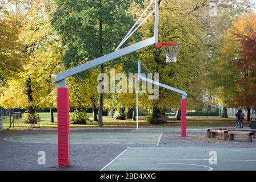
[[[20,10],[19,5],[26,6]],[[63,67],[61,42],[50,23],[53,5],[53,2],[48,0],[15,1],[13,4],[14,7],[18,6],[12,13],[19,30],[19,40],[22,42],[19,57],[26,59],[22,64],[22,72],[17,74],[18,77],[9,80],[10,85],[3,90],[0,102],[2,106],[9,108],[27,107],[28,122],[36,121],[35,109],[38,107],[49,107],[51,122],[54,121],[52,108],[56,105],[56,86],[53,81],[54,75]],[[27,96],[26,99],[24,95]],[[14,101],[10,103],[14,105],[6,105],[6,98],[12,98]]]

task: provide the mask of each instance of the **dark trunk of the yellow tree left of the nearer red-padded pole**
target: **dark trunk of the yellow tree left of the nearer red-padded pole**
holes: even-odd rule
[[[28,107],[28,112],[29,112],[29,121],[26,121],[28,123],[34,123],[35,122],[35,108],[33,106],[33,96],[32,96],[32,88],[31,88],[31,78],[27,78],[26,79],[26,86],[27,86],[27,90],[26,90],[26,94],[27,94],[27,99],[29,100],[29,107]],[[37,123],[37,122],[35,122]]]

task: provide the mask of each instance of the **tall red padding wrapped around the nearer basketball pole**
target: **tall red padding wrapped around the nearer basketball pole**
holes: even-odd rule
[[[58,164],[69,166],[69,89],[57,89],[58,111]]]

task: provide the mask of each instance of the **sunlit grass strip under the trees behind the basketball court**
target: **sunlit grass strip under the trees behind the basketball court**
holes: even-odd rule
[[[38,113],[41,118],[40,128],[52,129],[57,128],[57,113],[54,113],[54,123],[50,122],[50,113]],[[73,113],[70,113],[70,116]],[[87,113],[90,119],[93,119],[93,114]],[[136,126],[136,121],[131,121],[131,119],[126,119],[125,121],[116,120],[109,116],[103,116],[104,126]],[[221,117],[187,117],[187,126],[233,126],[235,123],[235,118],[221,118]],[[245,125],[249,125],[249,122],[245,122]],[[139,118],[140,126],[154,126],[149,122],[145,121],[144,118]],[[8,129],[10,126],[10,119],[3,119],[3,129]],[[87,125],[72,125],[70,127],[91,127],[98,126],[98,122],[89,122]],[[157,126],[173,126],[173,123],[163,123],[163,125]],[[176,123],[175,126],[179,126]],[[34,125],[38,127],[38,125]],[[14,120],[14,129],[30,129],[30,124],[25,124],[22,119]],[[10,129],[13,129],[11,127]]]

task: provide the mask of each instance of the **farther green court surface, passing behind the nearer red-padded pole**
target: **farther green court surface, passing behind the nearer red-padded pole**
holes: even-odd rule
[[[71,133],[70,144],[157,144],[161,133]],[[9,142],[57,144],[57,134],[34,134],[5,138]]]

